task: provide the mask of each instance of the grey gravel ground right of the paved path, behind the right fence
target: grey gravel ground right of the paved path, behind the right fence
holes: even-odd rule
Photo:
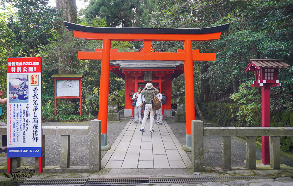
[[[185,123],[175,123],[173,119],[166,120],[181,146],[186,145],[186,125]],[[211,125],[204,125],[211,127]],[[245,140],[231,136],[231,166],[246,166],[246,145]],[[186,152],[191,161],[191,152]],[[261,159],[261,149],[256,148],[256,159]],[[281,157],[281,163],[293,166],[293,162]],[[222,166],[222,137],[204,136],[204,166]]]

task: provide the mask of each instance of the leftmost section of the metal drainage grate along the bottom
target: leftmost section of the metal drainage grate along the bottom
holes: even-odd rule
[[[37,180],[26,180],[21,185],[84,185],[88,181],[88,178],[56,178],[56,179],[37,179]]]

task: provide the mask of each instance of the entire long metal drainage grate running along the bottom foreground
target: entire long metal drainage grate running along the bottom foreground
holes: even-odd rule
[[[153,185],[160,183],[207,183],[229,182],[236,180],[268,179],[268,176],[227,176],[227,177],[150,177],[150,178],[68,178],[68,179],[38,179],[26,180],[22,185],[26,186],[95,186],[95,185]]]

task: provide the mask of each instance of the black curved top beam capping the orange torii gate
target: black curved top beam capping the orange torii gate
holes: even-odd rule
[[[207,34],[224,32],[228,30],[230,23],[205,28],[137,28],[137,27],[90,27],[64,21],[66,28],[70,31],[92,33],[142,33],[142,34]]]

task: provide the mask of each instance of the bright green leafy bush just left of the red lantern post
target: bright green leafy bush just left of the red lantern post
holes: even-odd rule
[[[237,115],[245,118],[247,126],[258,126],[261,120],[261,102],[257,89],[251,87],[252,81],[242,83],[237,93],[230,95],[230,98],[237,101],[237,104],[244,104],[239,107]]]

